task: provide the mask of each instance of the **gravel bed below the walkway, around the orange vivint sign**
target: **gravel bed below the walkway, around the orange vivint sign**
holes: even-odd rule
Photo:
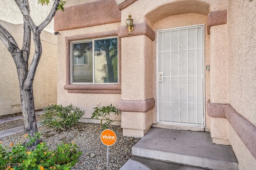
[[[13,121],[12,123],[15,122]],[[122,128],[120,126],[113,126],[113,128],[117,140],[114,145],[109,146],[108,170],[120,169],[132,156],[132,146],[140,140],[140,138],[122,136]],[[79,123],[76,128],[66,131],[56,131],[45,127],[39,127],[38,131],[42,133],[41,142],[46,142],[50,149],[55,149],[56,144],[61,142],[70,143],[74,141],[79,146],[82,155],[72,170],[106,169],[107,146],[102,144],[100,140],[101,125]],[[9,146],[11,142],[14,142],[14,144],[24,142],[24,133],[0,138],[0,142],[5,146]]]

